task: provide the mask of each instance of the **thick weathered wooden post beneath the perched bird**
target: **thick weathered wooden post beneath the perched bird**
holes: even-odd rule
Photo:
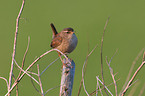
[[[71,96],[73,88],[73,80],[75,74],[75,63],[73,60],[70,60],[71,64],[64,58],[61,76],[61,86],[59,96]]]

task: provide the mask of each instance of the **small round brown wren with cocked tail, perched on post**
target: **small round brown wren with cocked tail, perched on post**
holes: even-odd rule
[[[78,43],[74,29],[68,27],[64,28],[60,33],[58,33],[53,23],[51,23],[50,26],[53,32],[50,47],[60,50],[65,55],[70,54],[76,48]],[[58,52],[58,56],[63,62],[60,52]]]

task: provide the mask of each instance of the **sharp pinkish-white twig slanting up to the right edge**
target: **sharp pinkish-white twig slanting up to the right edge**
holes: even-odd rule
[[[142,62],[141,65],[138,67],[138,69],[135,71],[132,78],[130,79],[127,86],[125,87],[124,91],[122,92],[121,96],[125,95],[127,89],[130,87],[130,85],[132,84],[132,82],[133,82],[134,78],[136,77],[137,73],[141,70],[141,68],[143,67],[144,64],[145,64],[145,61]]]

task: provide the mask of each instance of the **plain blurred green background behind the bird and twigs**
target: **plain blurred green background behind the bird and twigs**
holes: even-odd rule
[[[1,0],[0,1],[0,76],[8,79],[15,23],[22,0]],[[117,81],[118,92],[120,92],[132,62],[137,54],[145,47],[145,1],[144,0],[26,0],[21,16],[17,38],[16,61],[21,64],[27,47],[28,36],[30,36],[30,47],[26,57],[25,68],[31,64],[36,56],[40,56],[50,49],[52,31],[50,23],[54,23],[60,32],[65,27],[72,27],[78,37],[78,46],[69,57],[76,63],[74,86],[72,96],[77,96],[81,81],[81,70],[88,50],[91,51],[97,44],[97,48],[89,57],[85,84],[89,93],[96,88],[96,76],[101,78],[100,46],[105,22],[110,16],[106,29],[103,46],[104,79],[106,85],[112,83],[109,68],[105,57],[111,62]],[[52,52],[42,58],[40,64],[42,71],[48,64],[58,57]],[[142,55],[137,61],[135,71],[142,62]],[[55,62],[42,76],[43,89],[53,88],[60,84],[61,62]],[[18,74],[18,68],[14,67],[14,73]],[[36,71],[36,65],[33,67]],[[128,90],[126,96],[131,92],[133,96],[140,93],[145,84],[145,68],[139,72],[137,83],[132,86],[136,88],[133,93]],[[17,77],[17,76],[16,76]],[[36,77],[37,78],[37,77]],[[0,79],[0,96],[7,92],[6,83]],[[39,86],[37,86],[39,87]],[[108,87],[115,94],[114,86]],[[19,83],[20,96],[40,96],[34,89],[31,79],[24,76]],[[46,96],[58,96],[59,88],[46,94]],[[143,93],[145,94],[145,92]],[[12,92],[15,96],[15,91]],[[80,96],[86,96],[83,88]]]

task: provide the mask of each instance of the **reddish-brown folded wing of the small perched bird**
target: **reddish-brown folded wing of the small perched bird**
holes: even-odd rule
[[[58,34],[53,38],[50,46],[52,48],[56,48],[57,46],[59,46],[62,43],[62,37],[59,36]]]

